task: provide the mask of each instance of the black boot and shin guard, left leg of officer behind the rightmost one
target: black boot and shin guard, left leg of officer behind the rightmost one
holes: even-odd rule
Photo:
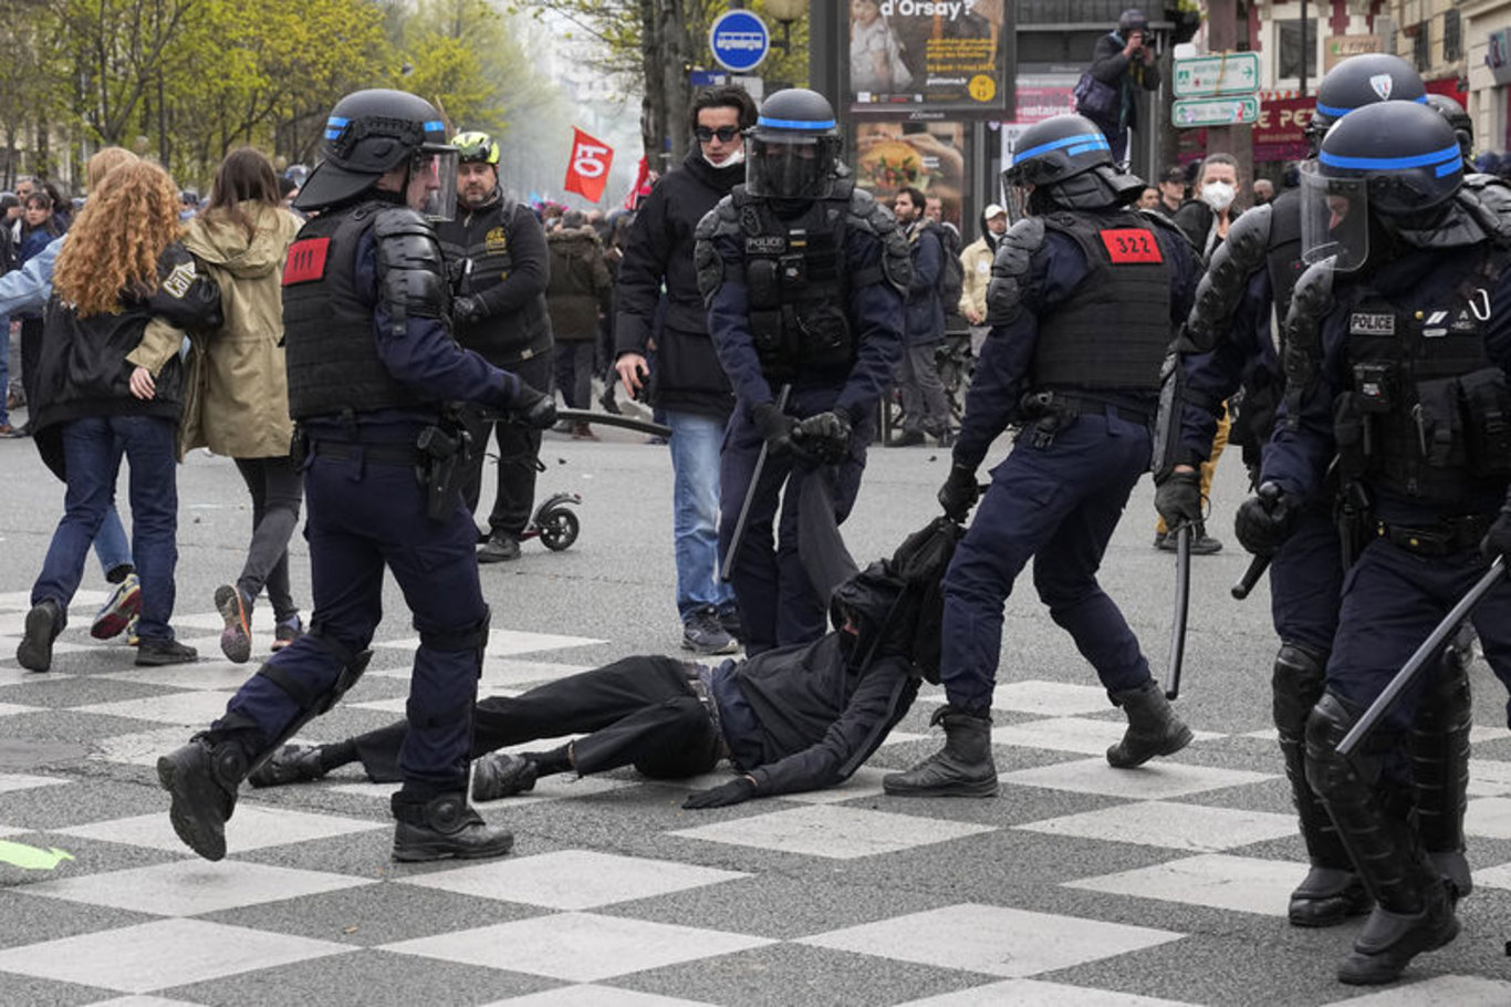
[[[1286,761],[1290,800],[1301,820],[1312,869],[1290,894],[1286,916],[1292,927],[1333,927],[1367,913],[1373,900],[1354,872],[1348,850],[1322,800],[1307,783],[1307,717],[1322,699],[1327,656],[1310,647],[1281,644],[1275,655],[1271,693],[1280,754]]]

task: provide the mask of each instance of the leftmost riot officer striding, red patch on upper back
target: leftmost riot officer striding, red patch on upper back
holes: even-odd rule
[[[426,215],[453,207],[456,151],[435,107],[402,91],[351,94],[331,110],[325,154],[296,201],[320,213],[299,231],[283,277],[314,615],[224,717],[159,759],[157,774],[178,838],[205,859],[224,857],[240,782],[366,668],[388,567],[420,635],[393,856],[499,856],[514,838],[467,806],[488,606],[477,532],[458,488],[465,443],[443,422],[443,402],[512,410],[533,426],[548,426],[555,408],[452,340],[450,292]]]

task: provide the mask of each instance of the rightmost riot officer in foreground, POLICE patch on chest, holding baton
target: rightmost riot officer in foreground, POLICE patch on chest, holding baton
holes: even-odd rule
[[[1340,529],[1357,559],[1306,724],[1307,782],[1377,903],[1339,966],[1352,984],[1393,981],[1452,940],[1455,897],[1467,891],[1429,859],[1429,826],[1411,809],[1423,768],[1408,733],[1440,665],[1401,693],[1352,759],[1337,751],[1485,572],[1487,531],[1497,552],[1511,540],[1511,519],[1496,520],[1511,479],[1511,228],[1461,183],[1454,130],[1422,104],[1372,104],[1328,132],[1302,171],[1302,245],[1319,265],[1286,319],[1286,395],[1260,496],[1238,514],[1239,540],[1263,555],[1315,502],[1337,494],[1357,511]],[[1508,617],[1505,582],[1472,617],[1503,682]],[[1467,730],[1457,744],[1467,748]],[[1467,774],[1425,771],[1463,801]]]

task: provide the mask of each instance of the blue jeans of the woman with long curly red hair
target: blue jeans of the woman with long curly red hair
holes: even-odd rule
[[[130,461],[131,553],[142,581],[142,640],[172,640],[174,569],[178,565],[178,484],[174,422],[153,416],[89,416],[63,426],[68,491],[63,517],[32,585],[32,603],[53,599],[68,611],[79,590],[89,543],[115,514],[115,484],[121,455]],[[113,519],[121,532],[121,519]],[[104,558],[101,558],[104,562]]]

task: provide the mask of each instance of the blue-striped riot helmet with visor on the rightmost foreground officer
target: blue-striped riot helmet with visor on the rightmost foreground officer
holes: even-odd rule
[[[1380,101],[1328,130],[1301,169],[1301,243],[1309,263],[1357,269],[1369,256],[1370,221],[1390,231],[1429,228],[1464,181],[1464,157],[1431,107]]]

